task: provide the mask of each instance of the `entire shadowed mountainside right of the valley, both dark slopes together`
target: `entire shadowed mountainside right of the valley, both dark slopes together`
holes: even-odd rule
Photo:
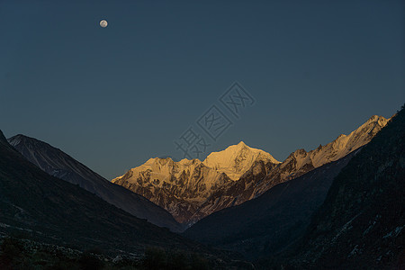
[[[366,145],[184,232],[264,269],[405,269],[405,111]]]

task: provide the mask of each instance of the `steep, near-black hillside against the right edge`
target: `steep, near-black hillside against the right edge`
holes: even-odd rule
[[[405,111],[335,178],[302,241],[263,266],[405,269]]]

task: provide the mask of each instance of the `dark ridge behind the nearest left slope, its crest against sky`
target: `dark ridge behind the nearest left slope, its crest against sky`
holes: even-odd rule
[[[8,142],[23,157],[31,161],[32,164],[39,166],[49,175],[72,184],[78,184],[105,202],[110,202],[139,219],[147,219],[157,226],[166,227],[175,232],[182,230],[182,226],[175,221],[168,211],[137,193],[132,193],[118,184],[112,184],[60,149],[23,135],[16,135],[8,139]]]

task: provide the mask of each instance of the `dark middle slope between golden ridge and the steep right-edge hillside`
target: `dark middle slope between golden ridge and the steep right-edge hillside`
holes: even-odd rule
[[[357,152],[275,185],[256,199],[217,211],[187,229],[184,236],[250,259],[275,254],[302,236],[333,178]]]

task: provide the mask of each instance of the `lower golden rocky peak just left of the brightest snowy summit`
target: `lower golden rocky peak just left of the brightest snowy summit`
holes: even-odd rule
[[[230,181],[198,159],[175,162],[171,158],[150,158],[112,180],[163,206],[180,222],[189,220],[210,193]]]

